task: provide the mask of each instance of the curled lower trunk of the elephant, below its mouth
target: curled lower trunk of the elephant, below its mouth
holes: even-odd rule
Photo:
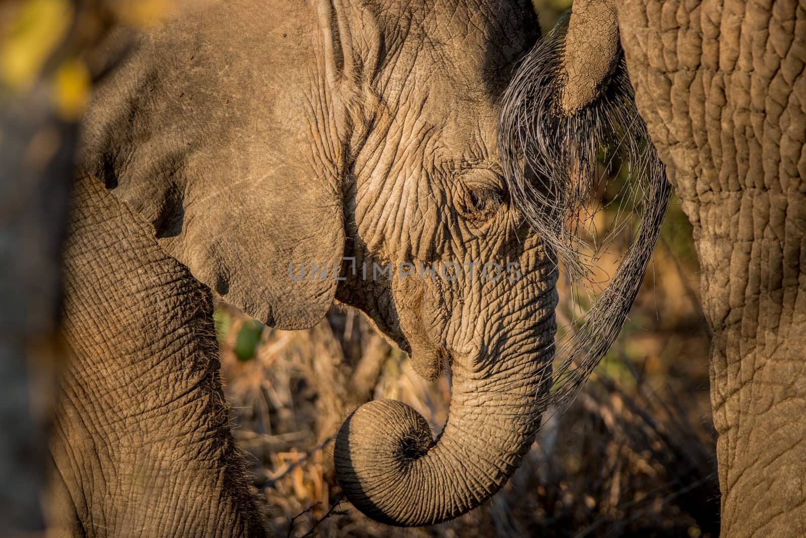
[[[455,518],[500,490],[540,423],[553,313],[538,326],[523,339],[507,337],[517,357],[455,359],[451,412],[435,441],[426,419],[404,403],[380,400],[354,411],[334,450],[339,485],[351,503],[382,523],[413,527]]]

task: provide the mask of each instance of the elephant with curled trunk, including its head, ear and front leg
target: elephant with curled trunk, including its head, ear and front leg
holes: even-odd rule
[[[210,289],[270,325],[366,312],[422,375],[451,365],[434,442],[397,402],[347,420],[351,502],[421,525],[472,509],[529,448],[556,269],[508,203],[497,99],[538,38],[526,0],[189,2],[136,37],[83,129],[66,255],[57,526],[90,536],[260,534],[227,432]],[[110,56],[124,39],[110,41]],[[106,186],[109,191],[102,187]],[[111,192],[111,194],[110,194]],[[454,282],[289,277],[289,263],[494,261]],[[372,271],[372,265],[369,265]],[[450,276],[450,273],[447,273]]]

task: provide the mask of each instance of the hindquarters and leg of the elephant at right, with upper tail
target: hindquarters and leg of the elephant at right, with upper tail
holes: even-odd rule
[[[804,63],[802,2],[578,0],[502,105],[505,176],[529,194],[521,161],[555,156],[557,124],[600,122],[629,73],[700,259],[723,536],[806,529]]]

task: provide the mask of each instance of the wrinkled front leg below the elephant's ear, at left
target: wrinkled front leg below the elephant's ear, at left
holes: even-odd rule
[[[81,536],[262,535],[218,377],[210,290],[152,236],[98,181],[77,180],[52,525]]]

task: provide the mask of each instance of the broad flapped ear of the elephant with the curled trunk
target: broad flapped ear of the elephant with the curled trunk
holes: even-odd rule
[[[336,102],[349,81],[338,25],[285,2],[267,17],[257,3],[220,2],[133,38],[93,96],[80,165],[224,300],[299,329],[322,319],[338,284],[349,122]],[[334,57],[322,77],[318,59]]]

